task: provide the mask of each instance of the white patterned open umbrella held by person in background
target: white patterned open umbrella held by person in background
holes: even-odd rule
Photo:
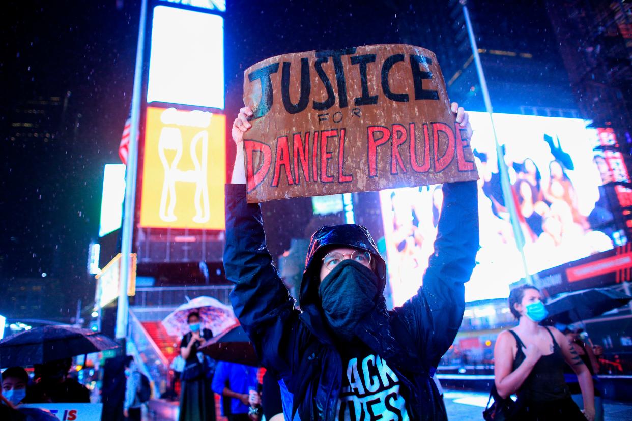
[[[162,321],[162,326],[169,335],[185,335],[189,332],[186,319],[191,312],[200,313],[202,328],[210,329],[214,336],[237,323],[233,309],[228,305],[222,304],[212,297],[197,297],[171,312]]]

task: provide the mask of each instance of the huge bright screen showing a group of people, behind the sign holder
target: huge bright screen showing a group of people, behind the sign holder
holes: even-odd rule
[[[471,146],[480,174],[480,250],[466,284],[466,301],[505,298],[524,276],[509,212],[502,196],[489,115],[471,112]],[[494,114],[499,144],[533,274],[612,249],[625,241],[595,162],[595,133],[581,119]],[[519,128],[519,129],[518,129]],[[394,305],[416,294],[434,251],[443,194],[440,185],[380,192]]]

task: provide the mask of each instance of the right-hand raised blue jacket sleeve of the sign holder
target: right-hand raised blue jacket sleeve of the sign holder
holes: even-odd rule
[[[465,282],[478,251],[476,181],[443,185],[444,201],[434,253],[417,295],[395,310],[429,367],[452,345],[465,309]]]

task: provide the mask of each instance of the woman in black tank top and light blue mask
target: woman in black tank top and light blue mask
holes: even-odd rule
[[[509,294],[509,310],[518,319],[518,326],[498,335],[494,383],[501,398],[518,394],[510,419],[593,421],[595,392],[590,371],[564,334],[539,325],[548,314],[540,290],[531,285],[514,288]],[[583,413],[564,381],[565,363],[577,375]]]

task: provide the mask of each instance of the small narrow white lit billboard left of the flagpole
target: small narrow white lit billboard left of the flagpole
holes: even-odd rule
[[[125,164],[107,163],[103,170],[99,237],[121,228],[123,199],[125,199]]]

